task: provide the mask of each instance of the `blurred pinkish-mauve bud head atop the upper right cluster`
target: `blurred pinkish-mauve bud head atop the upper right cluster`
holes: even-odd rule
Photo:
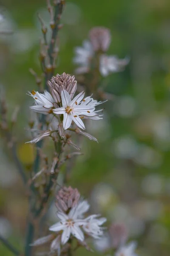
[[[110,30],[105,27],[94,27],[89,32],[94,51],[106,52],[111,43]]]

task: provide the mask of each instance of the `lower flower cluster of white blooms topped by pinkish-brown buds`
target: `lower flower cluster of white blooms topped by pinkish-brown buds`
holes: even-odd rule
[[[78,242],[86,244],[85,237],[99,239],[104,235],[104,227],[101,226],[105,223],[106,218],[99,218],[99,215],[96,214],[85,218],[84,215],[90,205],[86,200],[79,199],[79,196],[77,189],[71,187],[64,187],[59,190],[56,204],[58,221],[49,227],[49,230],[54,233],[37,239],[31,244],[32,246],[50,241],[51,252],[54,250],[60,251],[61,247],[74,237]]]

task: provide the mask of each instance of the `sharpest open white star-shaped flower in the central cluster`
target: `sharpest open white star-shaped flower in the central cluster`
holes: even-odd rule
[[[55,114],[63,114],[63,128],[66,130],[71,126],[71,122],[74,121],[79,128],[85,129],[85,125],[82,122],[82,118],[94,118],[98,116],[95,111],[95,104],[80,104],[85,92],[82,91],[73,100],[66,90],[62,90],[62,108],[55,108],[53,112]]]

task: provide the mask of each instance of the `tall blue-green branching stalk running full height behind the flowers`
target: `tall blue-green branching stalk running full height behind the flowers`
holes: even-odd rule
[[[41,67],[42,67],[42,72],[45,75],[44,84],[45,84],[45,89],[46,90],[48,90],[47,81],[49,79],[51,79],[51,76],[53,76],[53,74],[54,74],[54,66],[53,66],[53,64],[54,64],[54,47],[55,47],[55,43],[56,43],[56,39],[57,39],[57,34],[58,34],[58,31],[59,31],[59,21],[60,21],[60,17],[61,17],[61,14],[62,14],[64,2],[65,1],[61,0],[58,3],[56,2],[55,6],[54,6],[54,9],[55,9],[55,11],[54,11],[54,26],[51,27],[52,35],[51,35],[51,41],[50,41],[49,45],[47,43],[47,38],[46,38],[46,29],[43,25],[41,17],[39,16],[39,19],[40,19],[41,24],[42,24],[42,32],[43,32],[43,35],[44,35],[45,45],[48,47],[47,59],[49,59],[50,64],[51,64],[51,68],[49,69],[48,66],[47,66],[48,64],[45,63],[45,58],[41,58]],[[43,61],[43,63],[42,63],[42,61]],[[44,115],[40,116],[39,122],[41,124],[41,129],[42,129],[43,125],[45,124],[45,116]],[[40,148],[42,148],[42,146],[43,146],[43,140],[41,140],[40,142],[37,143],[36,158],[34,160],[34,174],[36,174],[39,170],[39,166],[40,166]],[[59,145],[56,146],[58,157],[60,157],[61,152],[62,152],[61,147],[62,147],[62,143],[59,142]],[[57,166],[55,166],[55,168],[57,168]],[[40,206],[39,206],[38,209],[37,209],[36,192],[34,191],[34,188],[32,187],[34,185],[31,184],[32,193],[31,193],[30,198],[29,198],[29,204],[30,204],[30,209],[31,209],[30,214],[32,215],[31,216],[32,218],[36,219],[41,215],[43,209],[45,208],[45,205],[47,204],[47,202],[50,198],[51,189],[53,187],[54,180],[57,180],[57,176],[58,176],[58,173],[54,173],[54,174],[50,175],[49,181],[48,181],[48,183],[46,184],[46,186],[44,188],[44,196],[41,199]],[[30,218],[30,216],[29,216],[29,218]],[[25,256],[31,256],[32,255],[32,248],[30,247],[29,244],[31,244],[32,241],[34,240],[34,231],[35,231],[34,230],[34,224],[32,223],[31,220],[29,220],[27,234],[26,234]]]

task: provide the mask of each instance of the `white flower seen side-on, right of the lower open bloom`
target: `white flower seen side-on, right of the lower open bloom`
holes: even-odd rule
[[[106,218],[97,219],[96,217],[98,216],[99,215],[94,214],[85,218],[85,224],[82,226],[83,230],[95,239],[99,239],[103,236],[103,227],[100,226],[107,221]]]

